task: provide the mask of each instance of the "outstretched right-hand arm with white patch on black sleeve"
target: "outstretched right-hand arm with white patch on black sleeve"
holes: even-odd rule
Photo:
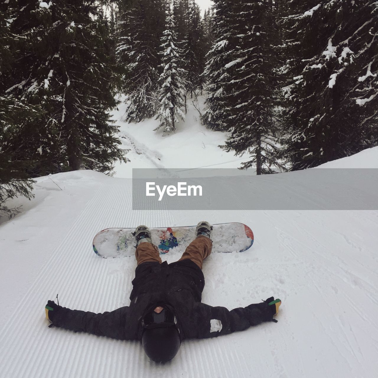
[[[216,337],[227,335],[235,331],[243,331],[251,325],[257,325],[262,322],[273,320],[276,314],[274,309],[269,305],[273,298],[265,302],[251,304],[247,307],[234,308],[229,311],[225,307],[211,307],[204,303],[198,303],[195,308],[198,324],[198,338]]]

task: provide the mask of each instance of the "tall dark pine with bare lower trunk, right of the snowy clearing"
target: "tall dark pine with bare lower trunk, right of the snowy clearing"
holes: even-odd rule
[[[229,42],[234,46],[226,64],[227,111],[225,123],[231,134],[222,146],[235,156],[250,155],[242,168],[256,167],[257,175],[281,168],[273,122],[275,106],[273,70],[274,53],[270,0],[238,1],[232,13],[234,21]]]

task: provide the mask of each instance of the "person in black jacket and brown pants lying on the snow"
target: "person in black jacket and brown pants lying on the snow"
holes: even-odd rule
[[[198,223],[196,239],[180,260],[168,264],[161,262],[150,230],[146,226],[137,227],[138,266],[132,281],[130,306],[95,314],[70,310],[48,301],[46,318],[54,326],[68,330],[120,340],[141,340],[147,356],[162,363],[174,358],[184,339],[227,335],[273,321],[281,304],[273,297],[231,311],[201,303],[202,264],[211,253],[211,230],[208,222]]]

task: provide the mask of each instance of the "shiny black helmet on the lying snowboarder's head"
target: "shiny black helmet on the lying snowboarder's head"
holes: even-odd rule
[[[163,308],[160,313],[150,311],[142,321],[142,346],[152,361],[165,363],[180,349],[180,333],[174,313]]]

